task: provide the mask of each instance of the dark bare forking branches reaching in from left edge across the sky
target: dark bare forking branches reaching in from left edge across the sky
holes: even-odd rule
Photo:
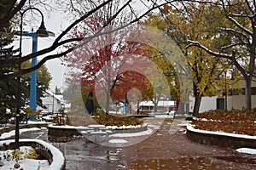
[[[49,47],[49,48],[44,48],[36,53],[33,53],[33,54],[28,54],[24,57],[22,57],[21,59],[2,59],[1,60],[1,63],[2,64],[12,64],[12,63],[22,63],[28,59],[32,59],[36,56],[40,56],[40,55],[43,55],[43,54],[48,54],[49,52],[52,52],[54,51],[56,48],[60,47],[61,45],[64,45],[68,42],[78,42],[78,41],[81,41],[81,40],[84,40],[84,42],[82,42],[81,44],[79,44],[79,46],[82,46],[84,45],[86,42],[90,41],[91,39],[93,39],[94,37],[98,37],[98,36],[101,36],[102,34],[108,34],[108,33],[111,33],[113,31],[119,31],[127,26],[131,26],[131,24],[133,23],[136,23],[137,21],[143,19],[143,17],[145,17],[148,13],[150,13],[151,11],[153,11],[154,9],[156,8],[160,8],[160,6],[163,6],[165,4],[168,4],[168,3],[173,3],[173,2],[176,2],[177,0],[173,0],[173,1],[169,1],[167,3],[161,3],[161,4],[156,4],[153,8],[149,8],[146,12],[144,12],[143,14],[141,14],[140,16],[136,17],[136,19],[134,20],[131,20],[130,23],[128,24],[125,24],[123,26],[119,26],[118,28],[114,29],[113,31],[107,31],[107,32],[101,32],[102,29],[106,26],[108,26],[108,24],[114,20],[117,15],[126,7],[129,5],[129,3],[131,3],[131,0],[129,0],[127,3],[125,3],[121,8],[119,8],[119,11],[113,15],[113,17],[111,18],[111,20],[108,20],[108,22],[102,26],[102,29],[98,32],[96,32],[93,36],[90,36],[90,37],[80,37],[80,38],[70,38],[70,39],[67,39],[67,40],[63,40],[61,42],[59,42],[61,40],[61,38],[63,38],[64,36],[67,35],[67,32],[68,31],[71,31],[73,29],[74,26],[77,26],[79,24],[79,22],[81,22],[82,20],[84,20],[85,18],[89,17],[91,14],[94,14],[97,10],[99,10],[100,8],[102,8],[104,5],[110,3],[111,1],[113,0],[108,0],[107,2],[105,3],[102,3],[101,5],[99,5],[98,7],[96,8],[93,8],[92,10],[90,10],[90,12],[88,12],[87,14],[84,14],[82,17],[80,17],[78,20],[75,20],[70,26],[67,27],[67,29],[65,31],[62,31],[61,32],[61,35],[59,35],[56,39],[55,39],[55,42],[53,42],[53,44]],[[70,53],[71,51],[73,51],[74,48],[79,48],[78,47],[73,47],[73,48],[70,48],[70,49],[67,49],[66,51],[60,53],[60,54],[52,54],[52,55],[49,55],[49,56],[46,56],[44,57],[44,59],[42,59],[38,65],[35,65],[34,67],[32,68],[28,68],[28,69],[24,69],[24,70],[20,70],[20,71],[16,71],[16,72],[11,72],[9,74],[4,74],[4,75],[0,75],[0,79],[3,79],[3,78],[13,78],[13,77],[18,77],[18,76],[21,76],[21,75],[24,75],[26,73],[29,73],[31,71],[34,71],[36,69],[38,69],[41,65],[43,65],[47,60],[49,59],[55,59],[55,58],[60,58],[61,56],[65,55],[65,54],[68,54]]]

